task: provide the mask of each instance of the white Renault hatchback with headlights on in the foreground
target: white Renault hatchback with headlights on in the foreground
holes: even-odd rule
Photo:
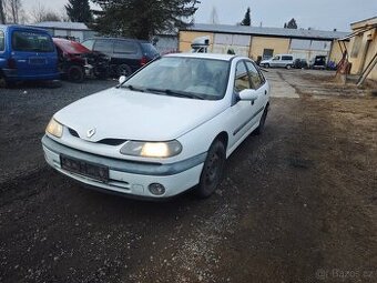
[[[90,186],[141,198],[210,196],[225,160],[262,132],[269,85],[248,58],[169,54],[57,112],[47,162]]]

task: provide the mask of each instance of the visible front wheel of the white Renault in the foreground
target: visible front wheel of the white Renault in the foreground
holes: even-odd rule
[[[215,140],[208,150],[204,161],[200,183],[196,186],[196,195],[206,199],[213,194],[223,179],[225,168],[225,146],[220,140]]]

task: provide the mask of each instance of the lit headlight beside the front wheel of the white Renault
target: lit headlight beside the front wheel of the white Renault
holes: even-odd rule
[[[122,154],[143,158],[171,158],[180,154],[181,151],[182,145],[179,141],[167,142],[129,141],[121,149]]]

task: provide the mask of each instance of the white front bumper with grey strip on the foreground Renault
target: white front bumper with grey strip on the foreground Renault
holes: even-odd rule
[[[169,164],[130,162],[82,152],[44,135],[42,139],[45,161],[59,172],[84,184],[145,198],[170,198],[196,185],[200,180],[206,153]],[[109,168],[109,181],[101,182],[61,168],[60,154],[96,163]],[[147,186],[160,183],[165,188],[163,195],[152,194]]]

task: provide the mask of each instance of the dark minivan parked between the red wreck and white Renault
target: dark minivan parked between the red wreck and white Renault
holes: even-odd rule
[[[114,77],[130,75],[160,55],[151,42],[143,40],[92,38],[83,41],[82,44],[92,51],[106,54]]]

